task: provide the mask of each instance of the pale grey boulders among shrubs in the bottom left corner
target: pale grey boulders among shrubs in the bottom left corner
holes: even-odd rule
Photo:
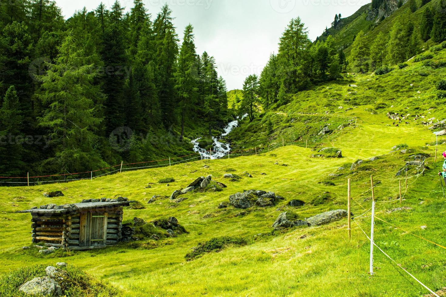
[[[58,265],[64,267],[66,263],[58,263]],[[19,291],[27,295],[62,296],[62,286],[59,282],[66,278],[66,272],[54,266],[48,266],[45,273],[45,277],[35,277],[25,282],[19,287]]]

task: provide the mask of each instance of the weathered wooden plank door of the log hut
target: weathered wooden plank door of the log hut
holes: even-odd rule
[[[79,246],[107,245],[107,213],[83,213],[80,217]]]

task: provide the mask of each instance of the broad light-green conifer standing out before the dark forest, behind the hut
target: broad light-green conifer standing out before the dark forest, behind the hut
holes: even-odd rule
[[[95,117],[95,97],[101,96],[93,85],[97,74],[87,63],[83,50],[68,35],[59,48],[55,64],[41,77],[43,94],[38,95],[47,106],[40,126],[48,129],[54,155],[46,160],[52,170],[86,171],[104,165],[95,150],[94,131],[101,122]]]

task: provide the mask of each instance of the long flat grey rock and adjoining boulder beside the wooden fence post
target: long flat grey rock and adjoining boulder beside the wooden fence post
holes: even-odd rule
[[[279,230],[296,226],[320,226],[347,218],[347,214],[346,210],[338,209],[312,216],[306,220],[297,220],[297,215],[293,212],[283,212],[277,217],[272,227]]]

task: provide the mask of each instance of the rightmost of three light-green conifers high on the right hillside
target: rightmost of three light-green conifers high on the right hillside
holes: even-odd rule
[[[387,45],[388,54],[387,61],[390,64],[398,64],[404,62],[407,57],[408,37],[404,30],[404,26],[399,20],[395,21],[390,31],[389,42]]]

